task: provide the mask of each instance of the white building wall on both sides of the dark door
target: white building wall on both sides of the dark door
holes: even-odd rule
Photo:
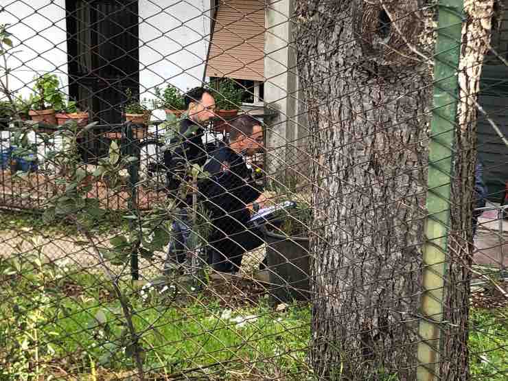
[[[17,51],[8,60],[11,91],[28,97],[36,76],[55,73],[67,93],[65,0],[0,0],[0,7]],[[210,21],[210,0],[139,0],[141,97],[153,98],[154,86],[186,91],[201,84]]]

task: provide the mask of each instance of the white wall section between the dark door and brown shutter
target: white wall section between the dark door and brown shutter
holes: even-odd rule
[[[154,86],[168,83],[181,91],[199,86],[209,44],[210,1],[140,0],[139,23],[141,97],[152,98]]]

